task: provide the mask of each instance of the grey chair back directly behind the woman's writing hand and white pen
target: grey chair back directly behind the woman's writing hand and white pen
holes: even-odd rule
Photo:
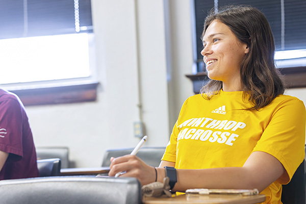
[[[109,149],[106,150],[102,162],[102,166],[110,166],[111,157],[121,157],[130,155],[134,148]],[[166,147],[141,147],[137,152],[137,157],[144,161],[147,165],[158,167],[164,155]]]

